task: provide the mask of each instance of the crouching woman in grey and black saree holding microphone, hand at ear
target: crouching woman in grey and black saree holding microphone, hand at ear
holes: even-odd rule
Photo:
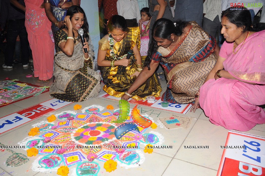
[[[101,76],[94,71],[94,46],[87,32],[88,23],[83,9],[71,6],[64,24],[65,28],[55,35],[58,52],[54,56],[55,82],[50,87],[50,95],[63,101],[85,101],[98,96]],[[86,39],[84,47],[78,34],[80,28]],[[87,48],[88,52],[82,48]]]

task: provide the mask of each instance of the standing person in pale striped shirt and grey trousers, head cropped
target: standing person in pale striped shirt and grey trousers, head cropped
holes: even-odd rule
[[[221,1],[205,0],[203,3],[203,26],[202,29],[215,37],[216,31],[221,32]]]

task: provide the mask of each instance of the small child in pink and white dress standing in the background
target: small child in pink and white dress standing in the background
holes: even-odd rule
[[[141,46],[140,46],[140,54],[141,56],[147,56],[148,51],[148,43],[149,43],[149,29],[145,34],[142,34],[146,25],[148,24],[151,15],[149,14],[149,8],[144,7],[140,11],[141,19],[139,20],[139,28],[141,34]]]

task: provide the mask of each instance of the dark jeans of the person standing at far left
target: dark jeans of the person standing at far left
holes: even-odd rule
[[[29,61],[29,41],[28,33],[25,27],[25,19],[9,20],[6,38],[5,64],[12,66],[13,56],[16,44],[16,38],[19,35],[21,45],[21,60],[23,65],[27,65]]]

